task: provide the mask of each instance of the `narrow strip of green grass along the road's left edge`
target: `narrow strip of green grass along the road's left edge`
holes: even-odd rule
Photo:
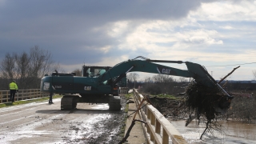
[[[62,98],[62,95],[54,95],[53,98]],[[31,103],[31,102],[45,102],[48,101],[49,97],[44,97],[44,98],[36,98],[36,99],[26,99],[22,101],[16,101],[16,102],[7,102],[7,103],[1,103],[0,108],[6,107],[6,106],[16,106],[16,105],[23,105],[26,103]]]

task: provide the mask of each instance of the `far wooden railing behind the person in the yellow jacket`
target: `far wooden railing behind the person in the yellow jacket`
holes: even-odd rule
[[[49,96],[48,93],[42,93],[40,89],[18,90],[14,101],[20,101],[32,98],[42,98]],[[0,103],[10,102],[10,90],[0,90]]]

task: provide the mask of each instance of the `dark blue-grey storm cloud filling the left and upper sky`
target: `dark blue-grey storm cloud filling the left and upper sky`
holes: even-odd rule
[[[108,53],[102,53],[99,50],[102,46],[118,45],[118,39],[110,38],[106,34],[108,23],[183,18],[190,10],[200,6],[201,2],[6,1],[0,8],[0,50],[3,52],[0,57],[6,52],[28,51],[37,45],[50,50],[56,62],[75,64],[85,58],[89,62],[100,62],[103,57],[127,52],[111,49]],[[102,30],[94,30],[95,27],[102,26]],[[128,32],[129,30],[126,31]],[[119,53],[115,53],[117,51]]]

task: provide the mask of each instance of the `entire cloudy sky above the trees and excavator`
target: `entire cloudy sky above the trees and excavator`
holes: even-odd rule
[[[241,66],[228,79],[252,80],[256,1],[0,0],[0,61],[34,46],[66,72],[143,56],[195,62],[215,79]]]

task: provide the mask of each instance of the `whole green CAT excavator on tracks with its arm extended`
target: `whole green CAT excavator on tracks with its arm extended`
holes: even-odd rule
[[[138,59],[140,58],[140,59]],[[187,70],[179,70],[158,63],[186,64]],[[227,101],[232,99],[222,86],[214,80],[206,68],[193,62],[154,60],[139,56],[110,66],[83,66],[82,76],[58,73],[55,70],[50,76],[45,75],[41,80],[40,90],[47,93],[63,94],[61,110],[73,110],[78,102],[108,103],[109,110],[121,110],[118,82],[126,80],[129,72],[146,72],[152,74],[167,74],[184,78],[193,78],[194,82],[203,86],[216,88],[226,95]],[[226,109],[228,106],[226,106]],[[223,109],[223,107],[222,107]]]

